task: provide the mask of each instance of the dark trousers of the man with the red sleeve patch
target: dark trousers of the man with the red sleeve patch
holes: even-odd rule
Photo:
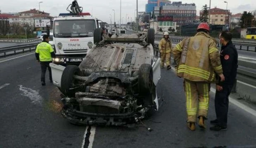
[[[233,85],[224,85],[222,91],[216,91],[215,94],[215,112],[218,120],[218,125],[227,127],[227,112],[228,112],[228,96],[231,93]]]

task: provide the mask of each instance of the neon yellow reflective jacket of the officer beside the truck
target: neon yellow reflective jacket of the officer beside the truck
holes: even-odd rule
[[[53,51],[53,47],[47,42],[42,42],[36,47],[36,53],[39,53],[39,60],[42,62],[51,61],[51,52]]]

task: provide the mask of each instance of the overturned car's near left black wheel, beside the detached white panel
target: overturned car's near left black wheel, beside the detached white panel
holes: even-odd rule
[[[75,88],[74,83],[75,79],[74,75],[81,75],[81,71],[78,66],[68,65],[61,76],[61,92],[63,95],[68,97],[74,97],[77,89],[70,90],[71,88]]]

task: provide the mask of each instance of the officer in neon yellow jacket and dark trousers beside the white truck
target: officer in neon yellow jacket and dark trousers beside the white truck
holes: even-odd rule
[[[45,85],[45,72],[48,67],[50,82],[53,82],[51,77],[51,67],[50,63],[52,58],[55,57],[55,53],[49,42],[49,36],[44,35],[42,43],[38,44],[36,47],[36,60],[41,64],[41,84]]]

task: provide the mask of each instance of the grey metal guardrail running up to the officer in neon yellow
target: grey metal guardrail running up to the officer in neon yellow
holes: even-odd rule
[[[25,49],[29,49],[28,51],[32,51],[36,49],[36,46],[38,45],[38,43],[36,44],[27,44],[27,45],[16,45],[16,46],[11,46],[11,47],[4,47],[4,48],[0,48],[0,54],[4,53],[4,57],[7,56],[7,52],[14,52],[13,54],[15,55],[17,53],[17,51],[22,50],[22,53],[25,52]]]

